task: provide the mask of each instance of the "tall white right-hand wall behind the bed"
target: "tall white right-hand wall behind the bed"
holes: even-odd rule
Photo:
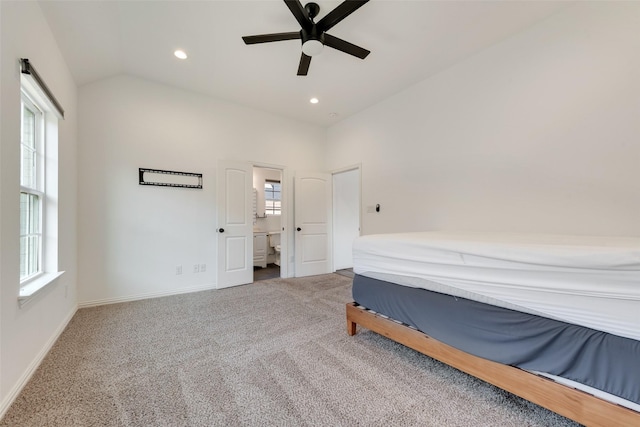
[[[581,3],[344,120],[363,234],[640,236],[640,4]]]

